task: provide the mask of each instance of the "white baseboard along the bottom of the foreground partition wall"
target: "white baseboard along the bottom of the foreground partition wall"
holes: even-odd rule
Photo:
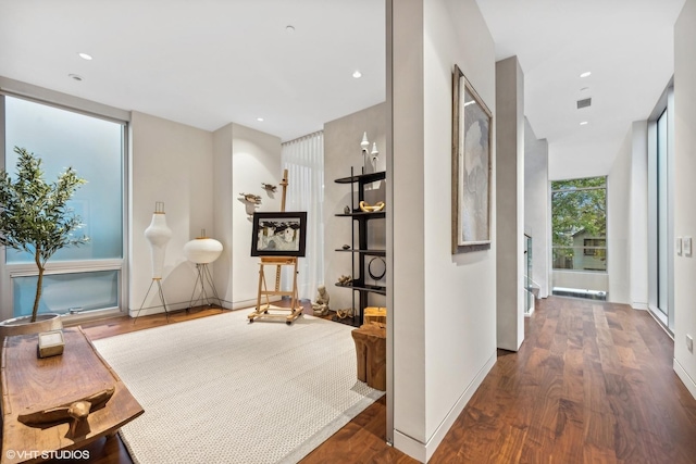
[[[408,435],[401,434],[399,430],[394,430],[394,447],[420,462],[426,463],[430,461],[439,443],[445,439],[445,436],[451,428],[452,424],[455,424],[455,421],[457,421],[461,412],[467,406],[467,403],[469,403],[469,400],[471,400],[471,397],[473,397],[483,383],[483,379],[486,378],[486,375],[488,375],[493,366],[496,364],[496,361],[497,354],[494,352],[481,369],[478,369],[474,379],[461,393],[452,409],[445,416],[426,443],[415,440]]]

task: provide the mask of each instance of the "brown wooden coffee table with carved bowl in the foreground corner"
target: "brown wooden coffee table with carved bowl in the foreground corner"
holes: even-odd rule
[[[82,328],[65,328],[63,337],[63,354],[46,359],[37,358],[37,335],[4,340],[1,463],[80,449],[144,412]]]

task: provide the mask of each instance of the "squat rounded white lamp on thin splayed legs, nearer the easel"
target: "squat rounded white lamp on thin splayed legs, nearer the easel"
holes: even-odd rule
[[[206,229],[201,229],[200,236],[196,237],[184,244],[184,256],[191,263],[196,264],[196,283],[194,284],[194,291],[188,303],[188,309],[194,308],[194,302],[204,302],[210,306],[210,299],[213,298],[217,301],[220,308],[222,308],[222,300],[217,296],[215,290],[215,284],[213,283],[212,275],[210,274],[210,263],[214,262],[222,253],[222,243],[206,236]],[[206,283],[211,290],[211,294],[206,291]],[[198,297],[195,299],[196,289],[200,286]]]

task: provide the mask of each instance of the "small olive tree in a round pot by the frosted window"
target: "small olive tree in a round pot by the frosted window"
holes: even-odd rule
[[[67,206],[86,180],[69,167],[54,183],[47,183],[39,158],[24,148],[15,147],[14,151],[20,156],[14,179],[0,171],[0,244],[30,253],[38,279],[32,316],[1,322],[0,340],[9,335],[62,328],[58,315],[38,315],[46,263],[61,248],[89,240],[74,234],[80,227],[80,218]]]

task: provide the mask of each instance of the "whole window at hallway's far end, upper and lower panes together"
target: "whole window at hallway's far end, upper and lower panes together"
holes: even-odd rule
[[[551,183],[554,294],[607,297],[607,178]]]

